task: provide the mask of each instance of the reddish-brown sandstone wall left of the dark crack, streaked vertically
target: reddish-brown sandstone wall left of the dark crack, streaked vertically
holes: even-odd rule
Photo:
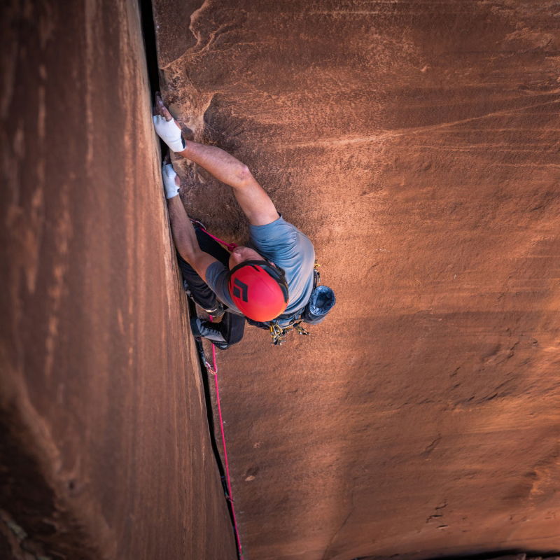
[[[233,559],[137,4],[0,13],[0,557]]]

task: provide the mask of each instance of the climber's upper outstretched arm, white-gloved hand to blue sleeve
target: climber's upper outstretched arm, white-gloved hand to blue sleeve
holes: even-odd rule
[[[206,169],[218,181],[232,187],[241,210],[251,224],[266,225],[279,218],[272,200],[244,163],[216,146],[205,146],[193,141],[183,144],[179,125],[158,96],[155,99],[155,113],[155,130],[167,146]]]

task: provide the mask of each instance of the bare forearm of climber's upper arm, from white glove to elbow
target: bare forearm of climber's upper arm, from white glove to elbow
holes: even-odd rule
[[[179,152],[183,158],[204,167],[218,181],[235,190],[242,190],[253,179],[248,167],[233,155],[216,146],[206,146],[197,142],[187,141],[186,148]]]

